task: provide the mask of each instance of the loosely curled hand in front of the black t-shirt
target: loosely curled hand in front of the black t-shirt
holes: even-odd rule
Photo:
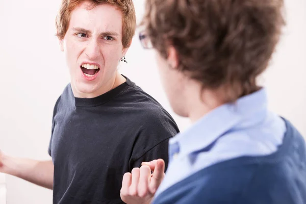
[[[150,203],[164,179],[164,160],[143,162],[141,165],[140,168],[134,168],[132,173],[123,175],[120,197],[127,204]]]

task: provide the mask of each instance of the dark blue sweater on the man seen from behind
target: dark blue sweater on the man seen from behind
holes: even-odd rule
[[[162,192],[154,203],[306,203],[305,142],[285,122],[283,144],[273,154],[204,168]]]

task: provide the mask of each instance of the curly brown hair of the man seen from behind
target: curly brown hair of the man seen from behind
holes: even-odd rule
[[[285,24],[283,7],[283,0],[147,0],[141,24],[164,58],[172,45],[179,70],[230,102],[259,89],[256,78]]]

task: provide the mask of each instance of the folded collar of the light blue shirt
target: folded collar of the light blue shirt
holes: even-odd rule
[[[224,104],[212,110],[184,133],[179,133],[171,138],[170,149],[171,146],[178,145],[180,155],[188,155],[207,147],[234,127],[252,125],[266,115],[267,94],[266,89],[262,88],[239,98],[234,104]]]

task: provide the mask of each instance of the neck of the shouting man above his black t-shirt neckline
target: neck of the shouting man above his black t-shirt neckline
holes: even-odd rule
[[[75,89],[75,87],[73,85],[71,86],[71,88],[72,88],[72,92],[73,92],[74,97],[94,98],[94,97],[97,97],[99,95],[105,94],[112,89],[115,89],[116,87],[123,84],[124,82],[126,82],[126,79],[117,71],[115,73],[115,76],[111,80],[104,83],[104,86],[102,86],[100,89],[96,90],[95,92],[82,93],[82,92],[79,92],[77,89]]]

